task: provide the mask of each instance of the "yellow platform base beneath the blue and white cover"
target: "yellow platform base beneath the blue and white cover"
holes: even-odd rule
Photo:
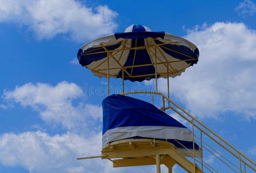
[[[156,165],[156,172],[160,173],[160,165],[164,164],[172,172],[172,167],[179,164],[188,172],[203,173],[203,171],[176,151],[175,145],[167,141],[151,139],[128,139],[110,142],[102,149],[101,156],[80,157],[92,159],[101,157],[113,162],[113,167],[131,167]],[[121,159],[120,159],[121,158]]]

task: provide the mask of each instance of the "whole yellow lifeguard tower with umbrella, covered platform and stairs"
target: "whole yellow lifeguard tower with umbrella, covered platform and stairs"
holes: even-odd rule
[[[169,77],[180,76],[198,62],[198,48],[181,37],[152,32],[143,25],[131,25],[124,32],[84,44],[77,54],[79,63],[98,77],[107,78],[103,100],[102,151],[99,156],[113,167],[164,164],[172,172],[179,164],[187,172],[255,172],[256,164],[218,136],[209,127],[170,99]],[[109,78],[122,79],[122,93],[110,95]],[[124,81],[155,79],[155,91],[124,91]],[[167,79],[167,96],[158,92],[158,78]],[[153,104],[127,95],[149,94]],[[162,106],[154,106],[156,96]],[[159,104],[155,104],[159,105]],[[166,111],[172,110],[184,126]],[[205,156],[220,161],[217,167]]]

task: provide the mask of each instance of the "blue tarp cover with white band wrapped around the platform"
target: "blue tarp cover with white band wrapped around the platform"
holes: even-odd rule
[[[192,156],[192,132],[153,104],[128,96],[111,95],[102,101],[102,107],[103,148],[113,141],[150,138],[169,141],[183,155]],[[201,157],[197,144],[195,154]]]

